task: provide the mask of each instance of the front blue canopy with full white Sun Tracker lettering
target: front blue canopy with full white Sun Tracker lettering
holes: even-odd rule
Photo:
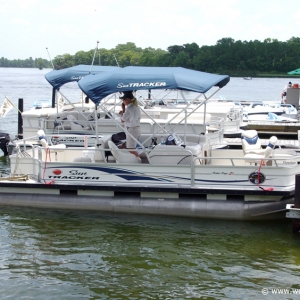
[[[78,81],[80,89],[98,106],[103,98],[116,93],[145,89],[179,89],[205,93],[213,86],[222,88],[228,75],[215,75],[181,67],[125,67]]]

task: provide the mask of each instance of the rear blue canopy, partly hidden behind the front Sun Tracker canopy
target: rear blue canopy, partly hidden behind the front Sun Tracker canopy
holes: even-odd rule
[[[45,75],[45,78],[55,88],[59,89],[62,85],[71,82],[78,81],[82,77],[88,74],[99,74],[103,72],[110,72],[119,69],[119,67],[111,66],[88,66],[78,65],[61,70],[53,70]]]

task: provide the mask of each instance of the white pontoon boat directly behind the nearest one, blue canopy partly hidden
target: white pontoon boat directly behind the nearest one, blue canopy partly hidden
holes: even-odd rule
[[[28,140],[34,137],[37,130],[42,129],[47,136],[52,136],[51,139],[54,143],[65,142],[67,145],[78,146],[82,145],[82,138],[76,138],[78,135],[88,135],[91,137],[96,136],[97,132],[98,134],[105,135],[123,131],[123,125],[120,122],[118,114],[121,110],[119,93],[114,93],[103,99],[102,107],[105,107],[105,111],[101,108],[95,111],[94,103],[88,101],[84,93],[81,92],[79,102],[73,103],[58,90],[62,85],[88,75],[89,71],[90,66],[80,65],[59,71],[54,70],[45,75],[46,79],[55,89],[53,99],[56,100],[58,105],[55,106],[53,104],[53,107],[45,106],[39,109],[33,107],[23,112],[24,139]],[[110,71],[111,69],[109,68],[103,70],[101,67],[97,67],[94,70],[95,74]],[[146,90],[144,95],[147,96],[148,92]],[[168,95],[170,91],[163,90],[163,92],[166,92],[165,94]],[[177,95],[183,95],[182,93]],[[151,97],[153,101],[155,93]],[[163,97],[160,95],[158,101],[162,103]],[[200,107],[199,103],[198,106],[192,105],[190,108],[187,108],[186,105],[167,105],[166,107],[162,107],[150,106],[148,104],[149,100],[146,101],[145,96],[142,97],[140,94],[137,94],[137,99],[142,109],[141,130],[145,134],[157,132],[157,129],[162,130],[162,132],[168,130],[170,132],[176,131],[177,133],[208,134],[211,145],[220,148],[227,146],[223,138],[224,134],[240,135],[241,133],[239,128],[241,114],[233,112],[232,107],[229,106],[225,107],[219,104],[217,107],[212,107],[210,104],[207,105],[208,108],[204,119],[203,108],[199,108],[198,111],[192,114],[190,113],[195,108]],[[190,116],[187,118],[187,122],[183,122],[186,111],[188,111]],[[58,135],[61,137],[58,138]],[[88,142],[90,141],[93,141],[93,138],[89,138]]]

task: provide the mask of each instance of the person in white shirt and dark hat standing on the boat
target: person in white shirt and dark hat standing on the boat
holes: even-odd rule
[[[127,128],[127,131],[136,139],[139,140],[141,136],[140,119],[141,111],[138,107],[138,102],[133,96],[132,91],[126,91],[120,97],[123,100],[122,110],[119,112],[121,121]],[[135,150],[136,141],[126,134],[126,148],[130,149],[129,152],[139,157],[138,152]]]

